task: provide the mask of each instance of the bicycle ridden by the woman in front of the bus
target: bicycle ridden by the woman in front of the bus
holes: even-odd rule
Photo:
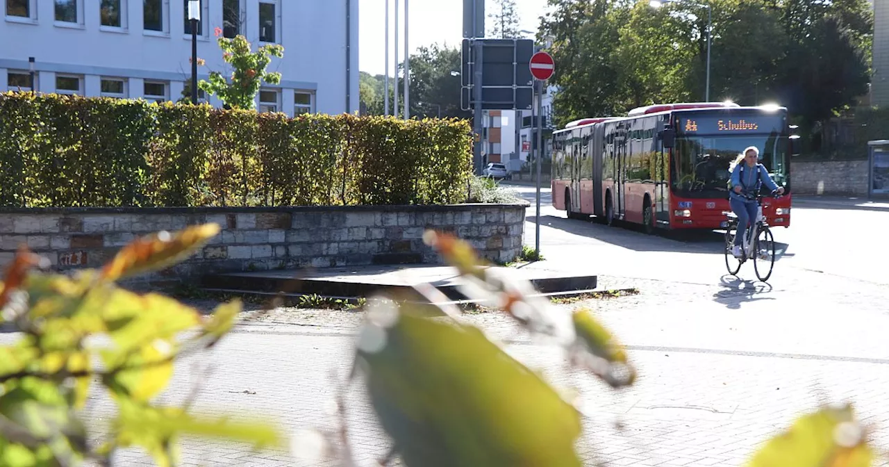
[[[776,196],[777,192],[778,190],[774,190],[771,193],[771,196],[776,198],[779,197]],[[750,198],[748,197],[748,199]],[[727,221],[725,227],[725,268],[728,270],[729,274],[737,276],[738,271],[741,270],[741,265],[751,258],[751,250],[755,251],[757,254],[752,255],[753,269],[757,273],[757,278],[765,282],[772,277],[772,270],[775,262],[775,240],[772,235],[772,230],[769,229],[769,224],[765,221],[765,216],[763,215],[762,192],[757,190],[757,196],[753,199],[757,201],[757,219],[750,222],[751,225],[749,229],[747,229],[746,235],[741,239],[740,258],[735,257],[732,253],[734,238],[738,231],[738,215],[731,211],[724,212]],[[762,238],[760,238],[760,234],[762,234]],[[754,242],[754,238],[756,238],[756,242]],[[752,248],[753,246],[756,248]],[[735,261],[738,264],[737,267],[733,269],[732,264]],[[768,271],[765,273],[765,276],[759,272],[760,262],[768,263]]]

